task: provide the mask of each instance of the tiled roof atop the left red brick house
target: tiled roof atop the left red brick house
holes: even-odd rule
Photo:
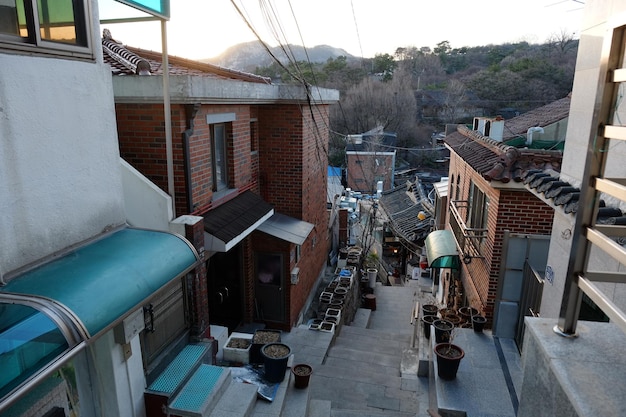
[[[163,74],[161,52],[147,51],[122,45],[103,32],[102,51],[104,62],[111,66],[113,75],[160,75]],[[199,75],[251,83],[271,84],[271,79],[243,71],[231,70],[217,65],[168,56],[170,75]]]

